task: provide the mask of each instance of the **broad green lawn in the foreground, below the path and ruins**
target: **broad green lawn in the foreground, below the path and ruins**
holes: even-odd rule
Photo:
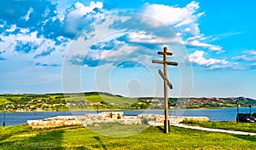
[[[150,126],[133,136],[98,135],[84,127],[32,130],[27,125],[0,128],[0,149],[255,149],[256,137]]]

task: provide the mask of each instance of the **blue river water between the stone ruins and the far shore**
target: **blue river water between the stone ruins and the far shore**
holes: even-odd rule
[[[240,107],[240,113],[249,113],[248,107]],[[102,111],[99,111],[99,113]],[[136,116],[141,113],[164,114],[164,110],[128,110],[122,111],[125,116]],[[96,111],[75,111],[75,112],[24,112],[5,113],[5,125],[26,124],[27,120],[50,118],[55,116],[84,115],[85,113],[96,113]],[[236,107],[218,109],[176,109],[169,110],[169,115],[176,116],[197,116],[208,117],[212,121],[236,120]],[[256,113],[256,107],[252,107],[252,113]],[[0,126],[3,125],[3,113],[0,113]]]

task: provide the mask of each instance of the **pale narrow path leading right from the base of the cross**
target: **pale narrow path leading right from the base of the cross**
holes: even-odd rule
[[[219,130],[219,129],[204,128],[199,126],[189,126],[185,124],[172,124],[172,125],[177,127],[182,127],[182,128],[193,129],[193,130],[206,130],[206,131],[212,131],[212,132],[222,132],[222,133],[230,133],[230,134],[244,135],[244,136],[256,136],[256,133],[236,131],[236,130]]]

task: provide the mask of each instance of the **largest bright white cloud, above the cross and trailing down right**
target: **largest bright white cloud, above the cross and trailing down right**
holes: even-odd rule
[[[181,38],[183,44],[187,46],[222,52],[220,46],[205,42],[207,38],[212,37],[205,37],[204,34],[201,34],[197,20],[205,13],[198,12],[199,9],[199,3],[192,1],[183,8],[162,4],[145,4],[141,12],[171,26],[175,32],[178,32],[177,37]],[[159,23],[154,24],[152,21],[148,25],[160,26]]]

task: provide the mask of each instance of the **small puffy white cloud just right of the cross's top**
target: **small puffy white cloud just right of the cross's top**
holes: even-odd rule
[[[226,66],[227,64],[229,64],[229,61],[225,61],[225,60],[219,60],[219,59],[213,59],[213,58],[206,59],[204,55],[205,55],[204,51],[195,50],[194,53],[189,55],[188,61],[200,66],[211,66],[212,68],[217,67],[215,65],[218,65],[219,67],[219,66]]]

